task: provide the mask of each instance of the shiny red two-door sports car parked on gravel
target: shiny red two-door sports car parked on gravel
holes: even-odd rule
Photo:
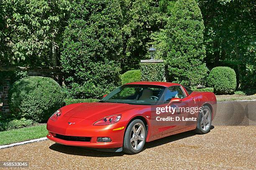
[[[47,122],[47,138],[62,145],[139,153],[146,142],[195,130],[208,133],[216,112],[212,92],[171,82],[131,82],[99,102],[61,107]]]

